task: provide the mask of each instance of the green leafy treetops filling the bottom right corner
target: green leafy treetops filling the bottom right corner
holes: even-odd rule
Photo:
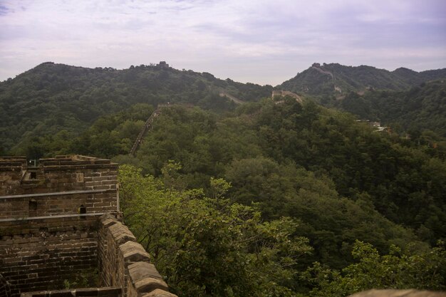
[[[446,288],[446,251],[444,246],[416,254],[403,253],[390,246],[390,253],[380,255],[370,244],[357,241],[352,255],[356,263],[341,272],[315,263],[303,279],[316,285],[310,296],[341,297],[370,288]]]

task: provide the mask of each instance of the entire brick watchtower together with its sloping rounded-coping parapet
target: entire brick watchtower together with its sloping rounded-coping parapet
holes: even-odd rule
[[[118,165],[0,157],[0,297],[175,296],[119,219]],[[93,278],[88,288],[79,276]]]

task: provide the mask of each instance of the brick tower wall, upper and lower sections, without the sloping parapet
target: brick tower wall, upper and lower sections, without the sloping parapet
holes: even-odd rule
[[[63,288],[98,269],[98,218],[118,213],[117,164],[59,156],[36,165],[0,157],[0,296]]]

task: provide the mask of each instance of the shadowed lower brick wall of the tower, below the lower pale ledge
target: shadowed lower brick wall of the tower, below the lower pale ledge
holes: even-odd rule
[[[95,217],[2,222],[0,274],[11,296],[63,288],[73,274],[95,269],[96,225]]]

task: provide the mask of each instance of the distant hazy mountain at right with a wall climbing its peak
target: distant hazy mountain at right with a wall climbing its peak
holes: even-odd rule
[[[294,93],[343,98],[350,91],[407,90],[427,80],[446,78],[446,68],[416,72],[408,68],[387,71],[371,66],[343,66],[338,63],[313,63],[306,71],[286,80],[276,88]]]

